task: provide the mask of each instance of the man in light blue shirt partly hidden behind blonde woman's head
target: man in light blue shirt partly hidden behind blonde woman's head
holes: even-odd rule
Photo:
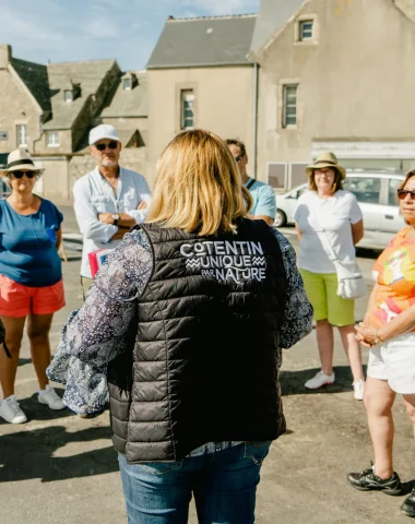
[[[260,182],[248,176],[248,155],[244,142],[236,139],[227,139],[226,144],[238,165],[242,182],[253,199],[253,206],[248,217],[252,221],[264,221],[272,226],[276,211],[274,190],[268,183]]]

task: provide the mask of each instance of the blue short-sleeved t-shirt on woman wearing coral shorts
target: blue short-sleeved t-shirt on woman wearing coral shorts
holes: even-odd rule
[[[63,215],[48,200],[39,210],[21,215],[0,200],[0,275],[31,287],[52,286],[62,278],[56,249]]]

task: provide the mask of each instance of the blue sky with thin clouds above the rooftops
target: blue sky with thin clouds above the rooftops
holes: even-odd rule
[[[168,15],[257,13],[260,0],[0,0],[0,44],[38,63],[116,58],[142,70]]]

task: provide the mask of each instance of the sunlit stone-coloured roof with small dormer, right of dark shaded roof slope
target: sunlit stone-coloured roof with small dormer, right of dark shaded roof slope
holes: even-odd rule
[[[98,91],[115,63],[116,60],[109,59],[48,64],[52,117],[44,124],[44,129],[71,129],[86,99]],[[63,99],[63,90],[68,88],[71,82],[81,85],[81,95],[68,103]]]

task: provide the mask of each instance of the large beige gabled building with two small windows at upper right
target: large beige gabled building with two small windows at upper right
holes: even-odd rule
[[[270,3],[278,0],[262,1],[258,27]],[[324,150],[351,167],[415,167],[415,1],[297,3],[250,56],[259,178],[293,187]]]

